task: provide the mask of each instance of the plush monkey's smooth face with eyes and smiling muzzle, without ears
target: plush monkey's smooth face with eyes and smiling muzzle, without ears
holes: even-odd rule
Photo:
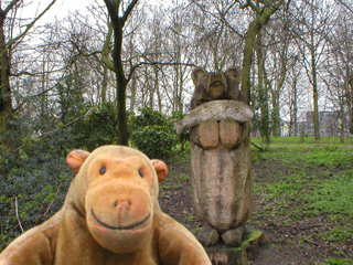
[[[127,253],[149,235],[153,220],[152,167],[140,157],[103,153],[88,169],[85,197],[87,224],[105,248]]]

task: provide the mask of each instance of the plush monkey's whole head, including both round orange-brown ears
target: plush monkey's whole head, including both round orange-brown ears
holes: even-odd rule
[[[71,200],[85,214],[93,237],[115,253],[139,248],[150,235],[153,213],[160,211],[158,182],[167,177],[167,165],[121,146],[92,153],[74,150],[66,162],[77,173]]]

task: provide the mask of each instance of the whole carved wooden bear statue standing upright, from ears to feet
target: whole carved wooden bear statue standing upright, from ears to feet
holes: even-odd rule
[[[238,91],[239,70],[192,73],[195,91],[192,112],[175,128],[191,128],[193,205],[203,227],[197,234],[204,245],[220,236],[227,245],[238,245],[253,205],[249,174],[248,121],[254,113]]]

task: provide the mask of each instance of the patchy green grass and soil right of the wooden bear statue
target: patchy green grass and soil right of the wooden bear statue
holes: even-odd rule
[[[253,176],[249,223],[272,234],[271,247],[285,258],[299,262],[277,264],[353,264],[352,149],[253,151]]]

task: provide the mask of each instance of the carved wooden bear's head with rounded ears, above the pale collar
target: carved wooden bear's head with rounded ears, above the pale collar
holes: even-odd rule
[[[194,94],[191,99],[191,109],[210,100],[245,99],[243,93],[238,91],[242,77],[238,67],[229,67],[224,73],[207,73],[205,70],[199,67],[191,73],[191,77],[195,85]]]

